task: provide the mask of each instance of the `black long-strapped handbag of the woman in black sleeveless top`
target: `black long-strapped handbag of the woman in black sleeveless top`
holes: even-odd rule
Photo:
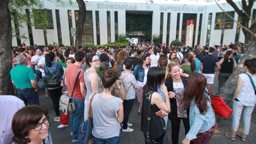
[[[168,137],[167,137],[167,133],[166,133],[166,126],[164,125],[164,122],[163,122],[163,119],[161,119],[161,123],[162,123],[162,126],[163,126],[163,129],[164,129],[164,135],[162,137],[162,139],[159,141],[159,142],[153,142],[152,139],[150,139],[149,137],[149,127],[150,127],[150,110],[151,110],[151,98],[152,98],[152,94],[153,92],[151,92],[150,94],[150,98],[149,98],[149,114],[148,114],[148,117],[147,117],[147,137],[146,137],[146,143],[147,144],[168,144]]]

